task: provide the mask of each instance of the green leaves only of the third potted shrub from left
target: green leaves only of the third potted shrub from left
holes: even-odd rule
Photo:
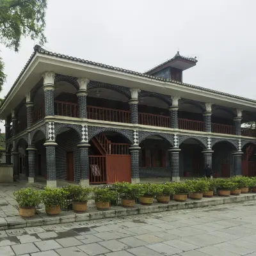
[[[68,185],[63,187],[63,190],[66,191],[67,198],[77,202],[87,202],[89,199],[90,192],[92,189],[83,188],[82,186]]]

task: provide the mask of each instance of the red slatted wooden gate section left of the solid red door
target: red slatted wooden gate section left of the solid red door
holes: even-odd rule
[[[90,184],[106,183],[106,156],[89,156]]]

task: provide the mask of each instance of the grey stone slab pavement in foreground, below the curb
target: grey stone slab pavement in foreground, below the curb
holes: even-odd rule
[[[256,256],[255,201],[0,231],[0,255]]]

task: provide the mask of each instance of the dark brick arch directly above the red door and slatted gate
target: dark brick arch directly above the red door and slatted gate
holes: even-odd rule
[[[134,143],[132,139],[134,131],[125,130],[125,129],[116,129],[111,127],[95,127],[95,126],[88,126],[88,141],[92,140],[94,136],[104,131],[118,132],[119,134],[122,134],[125,138],[127,138],[127,140],[129,140],[131,145]]]

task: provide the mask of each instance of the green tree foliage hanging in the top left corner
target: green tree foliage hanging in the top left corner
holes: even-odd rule
[[[15,52],[19,51],[22,36],[38,39],[44,45],[46,7],[47,0],[0,0],[0,42]],[[6,81],[3,69],[0,57],[0,91]]]

